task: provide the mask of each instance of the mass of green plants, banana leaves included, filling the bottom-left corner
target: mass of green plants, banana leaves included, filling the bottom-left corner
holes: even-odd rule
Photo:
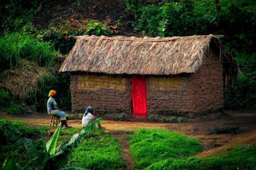
[[[44,134],[46,127],[30,127],[17,121],[0,120],[1,161],[3,169],[59,169],[66,166],[71,151],[85,138],[93,139],[97,132],[96,124],[101,118],[94,120],[87,127],[63,133],[60,125],[46,142]],[[20,130],[24,130],[25,136]],[[62,134],[62,138],[59,135]],[[63,137],[63,135],[65,137]],[[41,136],[41,140],[40,140]],[[47,135],[46,135],[47,136]],[[67,140],[65,140],[67,138]],[[70,139],[69,139],[70,138]],[[58,142],[61,139],[62,141]],[[69,140],[69,141],[68,141]],[[13,144],[15,143],[15,144]],[[59,143],[59,144],[58,144]],[[59,146],[58,146],[59,145]],[[13,151],[13,152],[10,152]],[[9,153],[10,152],[10,153]],[[6,154],[9,153],[9,154]],[[22,154],[21,154],[22,153]],[[106,165],[105,165],[106,166]],[[12,167],[12,168],[10,168]],[[113,169],[113,167],[109,166]]]

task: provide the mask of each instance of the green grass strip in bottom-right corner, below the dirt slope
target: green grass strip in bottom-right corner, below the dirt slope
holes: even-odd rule
[[[256,146],[236,146],[220,157],[169,158],[146,169],[256,169]]]

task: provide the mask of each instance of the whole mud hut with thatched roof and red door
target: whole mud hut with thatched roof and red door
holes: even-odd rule
[[[195,115],[223,107],[238,73],[221,36],[77,36],[60,72],[71,73],[72,110]]]

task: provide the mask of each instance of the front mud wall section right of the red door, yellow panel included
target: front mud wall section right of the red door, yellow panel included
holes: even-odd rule
[[[158,78],[147,78],[148,114],[171,115],[188,112],[190,110],[190,101],[187,98],[188,76]]]

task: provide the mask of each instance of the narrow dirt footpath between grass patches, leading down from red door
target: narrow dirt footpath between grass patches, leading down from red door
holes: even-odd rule
[[[127,133],[126,132],[118,132],[113,131],[110,132],[113,137],[116,137],[121,145],[121,154],[123,160],[126,162],[126,169],[132,169],[132,165],[135,162],[135,159],[132,157],[130,153],[129,142],[126,140]]]

